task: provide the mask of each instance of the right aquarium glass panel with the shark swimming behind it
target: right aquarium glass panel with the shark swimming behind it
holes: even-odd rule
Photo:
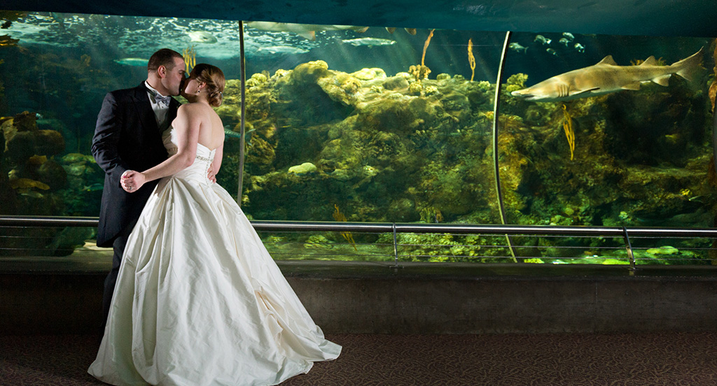
[[[513,34],[499,119],[508,221],[713,226],[714,52],[714,39]],[[712,243],[651,242],[637,258],[707,257]]]

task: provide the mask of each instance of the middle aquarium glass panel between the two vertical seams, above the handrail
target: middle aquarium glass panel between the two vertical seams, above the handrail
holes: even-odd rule
[[[486,149],[503,33],[252,22],[246,32],[244,211],[495,219]]]

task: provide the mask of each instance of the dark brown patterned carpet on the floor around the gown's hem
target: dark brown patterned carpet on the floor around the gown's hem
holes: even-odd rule
[[[717,385],[717,333],[348,335],[333,362],[282,385]],[[0,385],[103,385],[98,338],[0,337]]]

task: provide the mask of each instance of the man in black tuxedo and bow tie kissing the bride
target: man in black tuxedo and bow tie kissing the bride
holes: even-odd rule
[[[147,170],[167,159],[162,132],[177,115],[179,102],[171,95],[179,95],[184,82],[184,58],[171,49],[155,52],[147,69],[145,82],[105,96],[92,137],[92,155],[106,173],[97,245],[114,249],[105,279],[103,332],[127,238],[158,182],[130,194],[120,179],[128,170]]]

